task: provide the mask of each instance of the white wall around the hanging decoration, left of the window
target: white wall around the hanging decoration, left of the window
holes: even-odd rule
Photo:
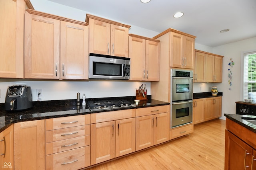
[[[222,96],[222,118],[224,113],[235,114],[236,103],[241,101],[240,82],[241,80],[241,53],[244,51],[256,50],[256,37],[237,41],[234,43],[213,48],[213,53],[223,55],[222,83],[217,83],[218,91],[223,92]],[[232,86],[228,84],[228,65],[230,58],[234,61],[232,70]],[[229,90],[230,88],[230,90]]]

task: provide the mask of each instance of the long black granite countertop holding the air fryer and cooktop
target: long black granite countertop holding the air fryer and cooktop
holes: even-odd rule
[[[104,99],[104,98],[102,98]],[[125,98],[126,100],[133,101],[135,97]],[[87,99],[86,99],[87,100]],[[89,101],[88,99],[87,101]],[[94,99],[97,100],[97,99]],[[133,102],[134,103],[134,102]],[[82,100],[81,100],[82,104]],[[169,105],[170,103],[162,102],[158,100],[141,101],[138,106],[128,107],[128,108],[116,108],[110,110],[99,110],[99,111],[90,111],[87,105],[85,109],[82,109],[76,106],[76,100],[52,100],[52,101],[42,101],[42,102],[33,102],[33,107],[24,111],[5,111],[4,103],[0,104],[0,132],[9,127],[12,123],[17,123],[20,121],[32,121],[40,119],[49,119],[55,117],[66,117],[73,115],[84,115],[91,113],[99,113],[106,111],[115,111],[122,109],[134,109],[134,108],[143,108],[143,107],[153,107],[153,106],[163,106]]]

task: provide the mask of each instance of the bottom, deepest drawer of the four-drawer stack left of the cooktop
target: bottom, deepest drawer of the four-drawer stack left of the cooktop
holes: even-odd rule
[[[78,170],[90,166],[90,146],[46,156],[46,170]]]

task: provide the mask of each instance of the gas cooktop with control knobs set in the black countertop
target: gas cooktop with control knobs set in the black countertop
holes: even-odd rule
[[[127,100],[96,100],[87,102],[90,111],[102,110],[102,109],[115,109],[120,107],[135,107],[135,104],[128,102]]]

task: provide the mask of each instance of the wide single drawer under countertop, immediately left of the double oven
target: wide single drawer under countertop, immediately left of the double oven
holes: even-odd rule
[[[169,111],[170,111],[170,105],[144,107],[144,108],[136,109],[136,117],[152,115],[157,113],[165,113]]]

